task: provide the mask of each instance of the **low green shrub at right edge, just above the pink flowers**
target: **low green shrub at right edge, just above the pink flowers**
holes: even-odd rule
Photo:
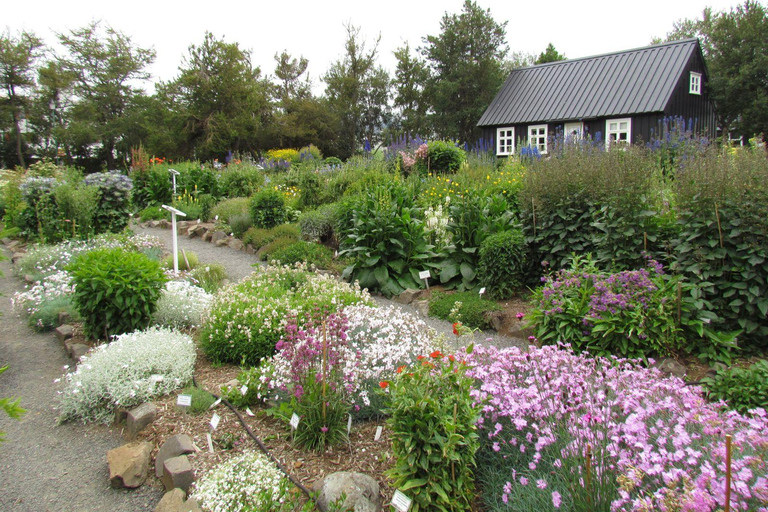
[[[702,379],[711,400],[725,400],[729,409],[746,414],[758,407],[768,410],[768,360],[749,368],[732,367]]]

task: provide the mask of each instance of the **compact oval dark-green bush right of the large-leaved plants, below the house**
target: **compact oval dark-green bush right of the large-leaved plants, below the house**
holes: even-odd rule
[[[480,284],[488,289],[490,297],[511,297],[523,285],[526,270],[525,236],[522,231],[502,231],[480,244]]]

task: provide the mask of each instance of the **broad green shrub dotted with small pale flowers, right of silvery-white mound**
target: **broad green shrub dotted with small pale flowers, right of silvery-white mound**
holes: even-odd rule
[[[306,266],[263,266],[214,296],[200,342],[216,363],[255,366],[275,352],[288,314],[303,321],[315,307],[329,312],[369,301],[357,286],[308,272]]]

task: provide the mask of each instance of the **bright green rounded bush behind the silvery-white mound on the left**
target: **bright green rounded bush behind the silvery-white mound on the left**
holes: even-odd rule
[[[123,249],[96,249],[68,267],[87,336],[109,339],[149,325],[166,277],[157,261]]]

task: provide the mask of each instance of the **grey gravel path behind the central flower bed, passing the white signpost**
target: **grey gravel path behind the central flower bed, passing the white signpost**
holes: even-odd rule
[[[136,233],[144,233],[147,235],[153,235],[158,237],[165,247],[171,248],[173,246],[173,232],[170,229],[162,228],[145,228],[139,225],[133,225],[131,228]],[[230,247],[216,247],[209,242],[203,242],[200,238],[188,238],[186,236],[178,237],[179,250],[192,251],[197,254],[200,263],[220,263],[227,269],[227,275],[233,281],[240,281],[244,277],[250,275],[253,272],[253,264],[258,263],[256,256],[247,254],[244,251],[236,251]],[[417,317],[422,318],[429,327],[434,329],[438,333],[443,333],[445,339],[452,341],[455,339],[453,335],[453,325],[451,322],[440,320],[433,317],[422,316],[413,306],[400,304],[399,302],[389,300],[380,295],[374,296],[374,300],[380,305],[392,305],[403,311],[411,313]],[[511,338],[508,336],[502,336],[495,331],[486,331],[482,333],[476,333],[475,342],[478,344],[492,344],[496,347],[510,347],[518,346],[523,349],[527,349],[527,340],[520,338]],[[462,343],[466,343],[466,339],[462,339]]]

